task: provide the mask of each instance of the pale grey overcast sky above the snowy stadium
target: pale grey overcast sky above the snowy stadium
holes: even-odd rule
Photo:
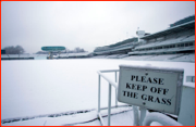
[[[96,47],[157,33],[195,14],[194,1],[2,1],[1,49],[22,46],[26,53],[44,46]]]

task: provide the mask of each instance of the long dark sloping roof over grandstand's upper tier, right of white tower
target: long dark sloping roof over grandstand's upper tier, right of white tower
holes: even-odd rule
[[[145,37],[142,37],[140,39],[159,38],[159,37],[163,37],[163,36],[167,36],[169,34],[174,34],[174,33],[177,33],[177,31],[184,30],[184,29],[195,29],[195,21],[184,23],[182,25],[170,27],[170,28],[168,28],[166,30],[161,30],[161,31],[158,31],[158,33],[145,36]]]

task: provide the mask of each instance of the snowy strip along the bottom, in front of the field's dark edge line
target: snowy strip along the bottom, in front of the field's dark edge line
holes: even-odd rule
[[[103,120],[107,124],[108,119],[108,111],[101,111],[103,116]],[[115,117],[126,117],[126,118],[115,118]],[[113,125],[132,125],[132,107],[118,107],[111,110],[111,124]],[[123,124],[124,123],[124,124]],[[35,117],[33,119],[27,120],[19,120],[12,123],[4,123],[3,126],[87,126],[87,125],[95,125],[100,126],[100,122],[97,118],[97,111],[93,110],[87,113],[78,113],[78,114],[71,114],[71,115],[62,115],[58,117]]]

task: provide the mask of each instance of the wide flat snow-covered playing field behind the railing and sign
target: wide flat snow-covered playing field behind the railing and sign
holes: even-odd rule
[[[187,84],[186,76],[195,76],[195,63],[186,62],[101,59],[1,61],[1,120],[97,109],[97,71],[119,69],[120,64],[184,68],[184,85]],[[108,76],[114,80],[114,74]],[[101,78],[101,107],[107,105],[108,82]]]

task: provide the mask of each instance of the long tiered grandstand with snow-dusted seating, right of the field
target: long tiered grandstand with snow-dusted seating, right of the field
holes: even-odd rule
[[[195,15],[155,34],[96,48],[94,58],[99,54],[107,55],[105,59],[195,62]],[[122,54],[124,58],[118,58]]]

